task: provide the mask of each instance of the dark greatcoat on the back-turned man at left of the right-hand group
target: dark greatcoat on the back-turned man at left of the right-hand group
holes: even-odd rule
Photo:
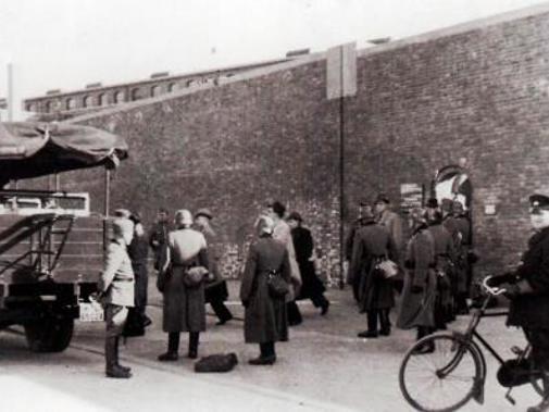
[[[357,232],[349,266],[352,283],[358,283],[361,312],[395,305],[392,282],[384,278],[375,269],[376,263],[387,258],[398,262],[397,247],[392,236],[387,227],[373,221],[367,222]]]

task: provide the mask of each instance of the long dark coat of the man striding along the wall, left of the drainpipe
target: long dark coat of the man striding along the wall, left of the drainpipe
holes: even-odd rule
[[[301,272],[301,289],[297,299],[312,298],[322,295],[326,288],[316,276],[314,263],[310,260],[313,253],[313,238],[311,230],[298,226],[291,229],[294,249],[296,249],[296,260]]]

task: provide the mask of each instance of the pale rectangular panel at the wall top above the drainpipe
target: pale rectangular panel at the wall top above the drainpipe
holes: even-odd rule
[[[326,53],[326,97],[339,99],[357,95],[357,43],[328,49]]]

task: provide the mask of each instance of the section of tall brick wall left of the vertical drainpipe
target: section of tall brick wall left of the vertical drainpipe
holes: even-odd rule
[[[125,136],[130,158],[112,180],[111,208],[209,208],[223,272],[241,270],[253,223],[269,200],[300,211],[322,274],[338,270],[337,111],[324,99],[325,63],[141,105],[85,123]],[[103,173],[74,172],[64,189],[89,189],[101,211]],[[84,187],[83,187],[84,183]]]

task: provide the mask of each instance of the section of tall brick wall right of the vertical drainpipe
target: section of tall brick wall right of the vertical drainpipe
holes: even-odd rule
[[[466,158],[477,272],[517,261],[527,197],[549,192],[549,15],[410,43],[358,62],[346,124],[346,191],[429,185]],[[484,205],[496,204],[495,216]]]

